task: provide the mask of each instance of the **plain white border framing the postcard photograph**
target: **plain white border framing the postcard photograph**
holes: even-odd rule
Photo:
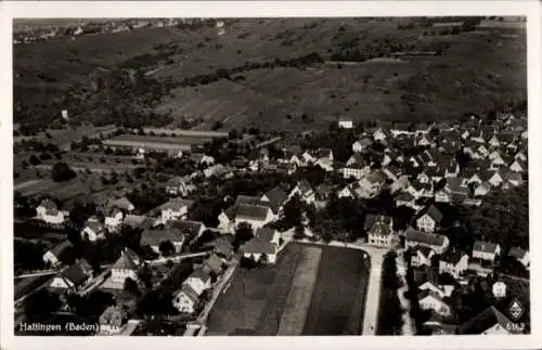
[[[5,349],[534,349],[542,348],[541,269],[535,247],[541,246],[541,21],[540,2],[533,1],[0,1],[0,164],[2,278],[0,324],[1,348]],[[526,15],[528,27],[528,104],[530,164],[530,247],[531,247],[531,335],[529,336],[439,336],[439,337],[14,337],[13,336],[13,164],[12,164],[12,40],[13,17],[337,17],[337,16],[422,16],[422,15]],[[468,63],[465,63],[468,64]],[[537,152],[539,151],[539,152]]]

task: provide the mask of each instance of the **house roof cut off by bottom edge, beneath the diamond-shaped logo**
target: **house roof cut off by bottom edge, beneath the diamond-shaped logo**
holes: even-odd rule
[[[511,335],[521,333],[514,330],[509,325],[514,322],[499,311],[494,306],[489,307],[478,315],[462,324],[457,334],[460,335]]]

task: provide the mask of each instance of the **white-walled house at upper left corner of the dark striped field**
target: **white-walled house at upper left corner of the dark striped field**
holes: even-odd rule
[[[279,237],[276,230],[261,228],[256,230],[254,237],[246,242],[240,250],[243,252],[243,257],[247,259],[260,261],[264,255],[267,257],[266,263],[275,263]]]

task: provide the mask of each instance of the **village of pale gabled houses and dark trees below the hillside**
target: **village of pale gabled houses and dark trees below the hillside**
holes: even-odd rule
[[[69,208],[47,194],[39,203],[16,196],[16,224],[54,231],[56,243],[43,248],[49,233],[15,232],[25,247],[15,255],[38,260],[37,269],[22,263],[15,274],[24,290],[15,296],[15,332],[70,320],[99,324],[75,330],[85,334],[203,336],[235,271],[275,264],[293,242],[369,254],[364,335],[386,322],[397,324],[392,334],[528,332],[528,219],[521,217],[528,212],[512,207],[527,205],[525,114],[434,124],[338,120],[319,134],[251,133],[260,142],[225,155],[208,142],[192,151],[168,142],[165,150],[90,142],[90,152],[120,148],[149,167],[153,157],[192,165],[192,172],[182,168],[182,176],[143,184],[140,198],[153,191],[164,198],[150,210],[133,192]],[[246,135],[230,131],[222,143],[231,148]],[[332,146],[319,147],[325,138]],[[461,217],[469,213],[478,217]],[[488,233],[495,228],[508,231]],[[391,294],[389,271],[397,278]],[[382,315],[393,303],[399,320]]]

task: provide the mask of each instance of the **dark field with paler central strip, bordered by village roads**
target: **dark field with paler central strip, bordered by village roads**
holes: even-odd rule
[[[235,272],[207,335],[359,335],[367,270],[360,250],[291,243],[275,265]]]

